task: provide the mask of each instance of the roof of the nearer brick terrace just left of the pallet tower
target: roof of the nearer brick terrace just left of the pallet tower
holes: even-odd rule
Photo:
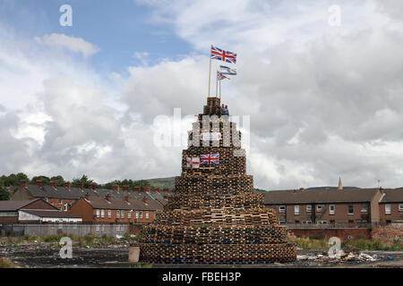
[[[162,209],[157,201],[148,199],[147,202],[143,202],[142,199],[129,198],[129,202],[124,198],[106,198],[101,197],[89,197],[84,198],[90,206],[99,209],[133,209],[133,210],[159,210]]]

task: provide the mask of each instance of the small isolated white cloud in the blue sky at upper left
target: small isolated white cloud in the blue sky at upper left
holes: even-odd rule
[[[90,55],[99,52],[99,47],[92,45],[90,42],[82,38],[75,38],[64,34],[52,33],[50,35],[44,35],[41,38],[37,37],[35,40],[50,47],[58,49],[65,48],[73,53],[81,53],[84,58],[88,58]]]

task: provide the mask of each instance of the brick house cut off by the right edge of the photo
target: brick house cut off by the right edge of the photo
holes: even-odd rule
[[[382,189],[381,223],[403,223],[403,188]]]

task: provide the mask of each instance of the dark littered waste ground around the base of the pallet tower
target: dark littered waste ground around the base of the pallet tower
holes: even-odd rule
[[[59,255],[60,248],[52,244],[24,244],[15,247],[0,247],[0,257],[6,257],[22,268],[67,268],[67,267],[144,267],[147,265],[138,265],[129,263],[129,248],[120,246],[110,246],[109,248],[73,248],[73,258],[61,258]],[[178,268],[178,267],[290,267],[290,268],[315,268],[315,267],[397,267],[403,268],[403,251],[385,252],[385,251],[364,251],[368,255],[380,255],[382,257],[394,256],[393,260],[383,258],[375,262],[360,261],[335,261],[325,258],[321,259],[304,259],[297,260],[294,263],[273,263],[263,265],[152,265],[153,268]],[[325,255],[322,250],[306,250],[297,251],[298,256],[308,255],[314,256],[318,254]],[[150,266],[150,265],[148,265]]]

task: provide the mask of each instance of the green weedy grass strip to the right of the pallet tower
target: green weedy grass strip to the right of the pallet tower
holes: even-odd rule
[[[303,249],[321,249],[328,250],[330,245],[329,240],[324,240],[321,236],[311,236],[309,238],[303,237],[289,237],[290,242],[296,243],[296,247]],[[341,243],[343,249],[356,249],[356,250],[384,250],[384,251],[403,251],[402,241],[393,241],[391,243],[382,242],[381,240],[367,240],[356,239],[348,240]]]

